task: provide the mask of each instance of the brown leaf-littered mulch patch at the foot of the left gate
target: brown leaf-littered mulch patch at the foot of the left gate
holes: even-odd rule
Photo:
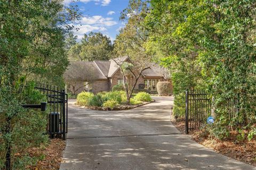
[[[51,139],[49,145],[46,147],[29,149],[30,156],[39,157],[40,160],[38,160],[35,166],[29,166],[26,169],[59,169],[65,147],[65,141]]]

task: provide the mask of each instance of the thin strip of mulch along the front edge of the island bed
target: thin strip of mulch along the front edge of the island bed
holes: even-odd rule
[[[133,109],[139,106],[147,105],[149,103],[153,103],[155,100],[149,101],[149,102],[143,102],[142,104],[139,105],[119,105],[118,107],[115,107],[113,109],[106,108],[106,107],[98,107],[98,106],[84,106],[84,108],[90,108],[92,110],[96,111],[123,111],[123,110],[129,110]]]

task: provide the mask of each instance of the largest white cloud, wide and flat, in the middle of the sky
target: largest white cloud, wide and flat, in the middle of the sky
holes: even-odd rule
[[[85,16],[81,19],[81,24],[97,25],[102,27],[110,27],[116,25],[117,22],[113,18],[103,18],[101,15]]]

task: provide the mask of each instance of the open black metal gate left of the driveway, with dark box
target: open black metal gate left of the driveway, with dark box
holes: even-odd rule
[[[66,140],[68,133],[68,96],[65,89],[44,83],[36,83],[35,89],[47,97],[47,133],[51,138]]]

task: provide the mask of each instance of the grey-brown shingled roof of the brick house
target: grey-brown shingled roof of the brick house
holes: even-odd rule
[[[117,63],[126,61],[129,57],[116,58]],[[87,80],[89,76],[93,75],[94,79],[104,80],[113,77],[118,71],[119,66],[113,59],[109,61],[93,61],[93,62],[70,62],[64,77],[73,75],[74,80]],[[162,73],[164,69],[156,64],[150,64],[150,69],[142,72],[143,77],[164,77]]]

